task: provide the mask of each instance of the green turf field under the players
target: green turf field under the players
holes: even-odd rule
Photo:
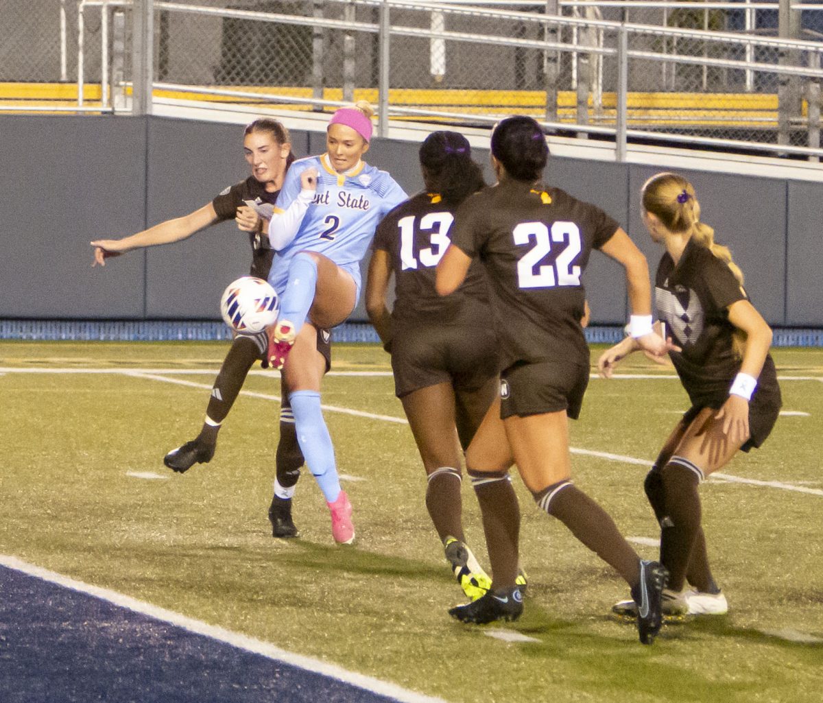
[[[226,348],[0,342],[0,553],[452,703],[821,700],[823,350],[774,351],[793,414],[701,488],[728,616],[668,625],[644,647],[609,615],[627,597],[623,582],[517,480],[523,617],[504,628],[448,617],[462,592],[425,512],[411,433],[370,417],[402,419],[390,376],[364,373],[388,372],[379,347],[337,345],[334,370],[346,373],[324,382],[325,404],[363,413],[326,412],[351,477],[355,547],[333,544],[307,472],[295,497],[300,539],[271,537],[274,373],[249,377],[253,394],[240,396],[212,463],[168,471],[162,457],[197,434]],[[648,539],[658,535],[647,467],[620,457],[653,459],[686,395],[671,369],[635,357],[622,374],[653,378],[589,385],[573,466],[627,536]],[[467,482],[463,492],[467,536],[487,563]],[[500,629],[531,640],[488,636]]]

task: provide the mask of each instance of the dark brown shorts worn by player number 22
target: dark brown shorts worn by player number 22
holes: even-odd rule
[[[577,420],[588,386],[588,365],[568,361],[517,363],[500,374],[500,417],[565,410]]]

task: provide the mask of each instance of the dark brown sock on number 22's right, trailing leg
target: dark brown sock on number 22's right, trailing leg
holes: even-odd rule
[[[606,510],[570,481],[560,481],[535,494],[534,500],[554,515],[597,556],[626,580],[639,582],[640,557],[617,529]]]

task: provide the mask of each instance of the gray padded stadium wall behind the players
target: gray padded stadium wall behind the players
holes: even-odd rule
[[[323,135],[292,130],[295,154]],[[368,161],[413,193],[422,182],[416,143],[375,140]],[[488,163],[488,152],[476,151]],[[0,117],[0,319],[219,317],[226,283],[248,272],[246,235],[231,222],[168,246],[91,268],[89,241],[119,238],[209,203],[248,173],[237,125],[156,117]],[[620,221],[654,268],[638,193],[656,169],[552,158],[546,180]],[[486,167],[487,179],[490,170]],[[746,286],[778,327],[823,327],[823,184],[682,171],[703,219],[732,248]],[[625,286],[595,254],[584,278],[596,324],[621,324]],[[362,302],[352,320],[365,320]]]

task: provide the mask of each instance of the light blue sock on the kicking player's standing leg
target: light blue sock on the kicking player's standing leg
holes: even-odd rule
[[[334,462],[334,447],[320,409],[320,393],[314,390],[295,390],[289,393],[291,409],[295,413],[297,442],[306,464],[323,496],[329,503],[340,495],[340,479]]]

